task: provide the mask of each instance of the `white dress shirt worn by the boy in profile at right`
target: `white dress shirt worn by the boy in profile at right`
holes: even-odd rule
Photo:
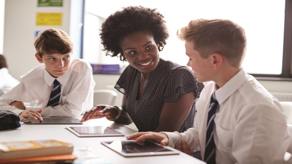
[[[243,69],[217,87],[212,81],[202,90],[196,103],[195,128],[184,133],[164,132],[169,146],[186,140],[191,150],[201,148],[204,159],[208,108],[215,92],[219,104],[213,132],[216,163],[281,163],[290,142],[286,115],[278,100]]]

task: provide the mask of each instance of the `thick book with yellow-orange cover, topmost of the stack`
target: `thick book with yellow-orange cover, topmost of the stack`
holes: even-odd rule
[[[70,154],[73,145],[57,140],[37,140],[0,143],[0,159]]]

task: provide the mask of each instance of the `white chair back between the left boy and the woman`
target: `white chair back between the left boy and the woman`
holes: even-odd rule
[[[113,90],[94,90],[93,105],[115,105],[117,93]]]

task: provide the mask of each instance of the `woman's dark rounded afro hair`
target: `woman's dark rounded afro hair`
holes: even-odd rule
[[[121,61],[126,61],[120,42],[125,36],[134,32],[151,33],[158,45],[158,50],[163,50],[169,36],[166,21],[163,18],[164,16],[156,8],[143,6],[129,6],[111,14],[102,23],[100,30],[103,51],[111,57],[119,55]]]

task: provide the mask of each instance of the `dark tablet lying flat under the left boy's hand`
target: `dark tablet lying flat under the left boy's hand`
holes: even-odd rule
[[[83,124],[77,118],[43,118],[43,121],[27,118],[26,124]]]

